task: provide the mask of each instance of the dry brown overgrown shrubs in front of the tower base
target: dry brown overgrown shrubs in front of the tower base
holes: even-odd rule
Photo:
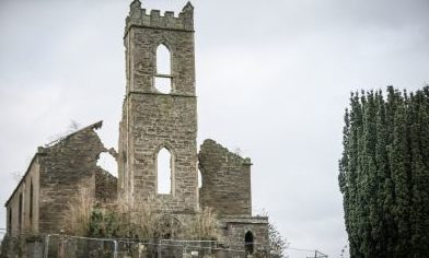
[[[69,216],[65,224],[67,234],[78,236],[143,242],[161,238],[221,241],[217,214],[209,208],[195,215],[177,218],[169,210],[155,210],[149,204],[137,208],[119,202],[100,206],[86,191],[69,203]]]

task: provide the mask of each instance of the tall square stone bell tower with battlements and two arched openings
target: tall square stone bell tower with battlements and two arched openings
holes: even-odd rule
[[[139,0],[126,20],[126,94],[119,125],[119,192],[176,213],[198,208],[194,8],[149,14]],[[163,60],[161,60],[163,59]],[[160,154],[167,153],[166,174]],[[162,188],[162,189],[161,189]]]

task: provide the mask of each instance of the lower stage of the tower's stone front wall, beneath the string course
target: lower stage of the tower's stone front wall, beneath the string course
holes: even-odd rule
[[[134,198],[138,201],[155,196],[155,202],[170,210],[195,211],[196,99],[172,95],[131,95],[130,99]],[[172,195],[156,195],[156,156],[164,146],[173,155]]]

